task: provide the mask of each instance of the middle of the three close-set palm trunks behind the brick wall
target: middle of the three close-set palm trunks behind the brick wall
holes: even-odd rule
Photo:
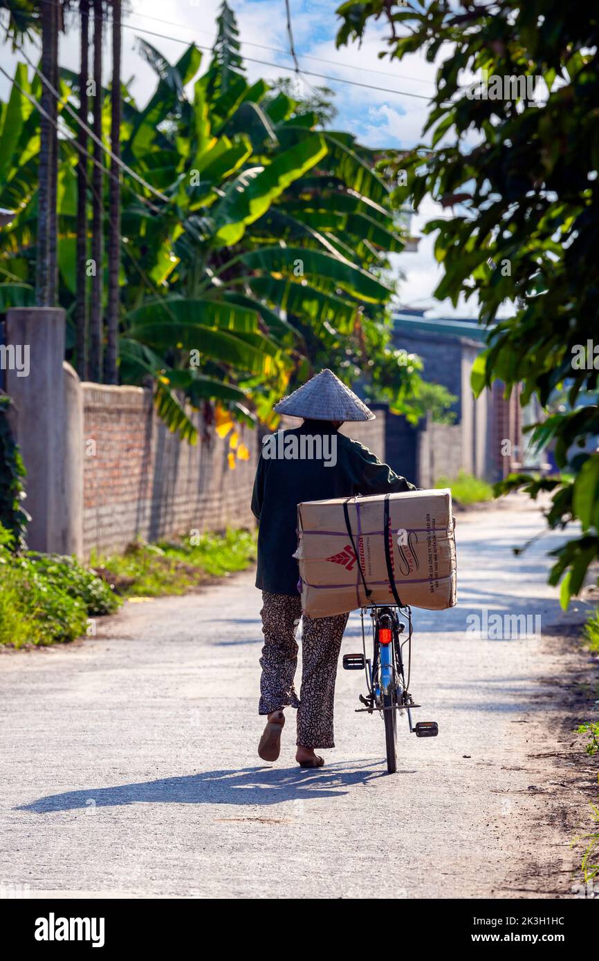
[[[93,132],[102,138],[102,0],[93,0]],[[99,144],[93,144],[93,156],[99,163],[104,152]],[[90,355],[89,378],[100,382],[102,373],[102,281],[104,275],[104,236],[102,217],[104,213],[102,170],[94,163],[91,177],[91,259],[94,272],[91,278],[91,309],[89,316]]]

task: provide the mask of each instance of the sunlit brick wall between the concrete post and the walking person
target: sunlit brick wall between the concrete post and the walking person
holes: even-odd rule
[[[241,430],[251,452],[227,463],[228,443],[195,414],[200,439],[181,443],[140,387],[83,383],[84,554],[122,550],[137,536],[156,541],[189,530],[253,528],[250,500],[257,432]]]

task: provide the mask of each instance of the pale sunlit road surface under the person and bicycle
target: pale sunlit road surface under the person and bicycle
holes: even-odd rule
[[[522,502],[459,516],[459,606],[414,611],[414,714],[439,736],[401,719],[395,776],[380,717],[354,712],[362,675],[341,670],[326,767],[295,765],[290,710],[279,761],[262,763],[252,573],[128,603],[68,647],[4,653],[0,883],[32,897],[571,897],[563,812],[588,799],[552,755],[572,740],[560,635],[582,615],[545,583],[559,535],[512,554],[542,527]],[[542,640],[476,639],[467,617],[483,608],[538,615]],[[343,652],[359,637],[353,615]]]

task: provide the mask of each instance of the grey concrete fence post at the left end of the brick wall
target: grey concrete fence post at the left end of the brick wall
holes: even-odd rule
[[[79,378],[63,368],[64,311],[12,308],[6,340],[12,431],[27,469],[28,546],[80,554],[83,413]]]

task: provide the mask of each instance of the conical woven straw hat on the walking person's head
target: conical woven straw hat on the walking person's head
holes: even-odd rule
[[[361,421],[374,420],[375,414],[339,381],[328,368],[312,380],[284,397],[274,408],[278,414],[309,420]]]

